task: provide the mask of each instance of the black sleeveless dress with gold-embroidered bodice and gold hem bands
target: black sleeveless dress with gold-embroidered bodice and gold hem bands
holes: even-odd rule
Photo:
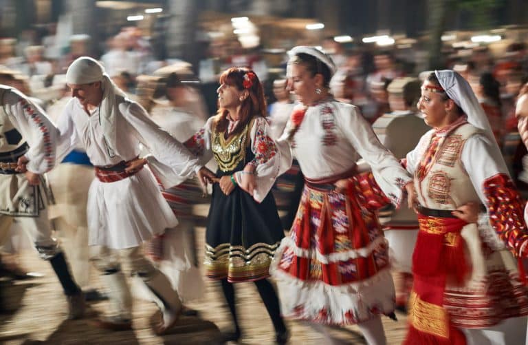
[[[252,123],[228,140],[212,129],[211,148],[219,167],[217,177],[243,170],[254,158],[250,145]],[[204,261],[208,278],[248,282],[268,277],[270,262],[283,237],[271,192],[259,203],[238,186],[226,196],[218,183],[213,185]]]

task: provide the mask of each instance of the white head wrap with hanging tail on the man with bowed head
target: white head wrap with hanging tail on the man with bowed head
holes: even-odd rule
[[[68,84],[89,84],[101,82],[102,101],[99,111],[99,122],[104,133],[108,154],[113,157],[118,154],[115,114],[119,112],[115,96],[124,97],[124,92],[117,87],[104,71],[104,67],[89,56],[81,56],[69,65],[66,72]]]

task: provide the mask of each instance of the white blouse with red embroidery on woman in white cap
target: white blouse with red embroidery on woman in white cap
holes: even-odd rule
[[[399,205],[402,188],[412,178],[380,143],[357,107],[334,100],[308,107],[290,143],[287,137],[293,126],[290,119],[278,140],[283,154],[281,171],[292,165],[292,154],[303,174],[311,179],[342,174],[364,158],[382,191]]]

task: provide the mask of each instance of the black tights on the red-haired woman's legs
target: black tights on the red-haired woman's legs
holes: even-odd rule
[[[235,333],[240,334],[239,320],[236,317],[236,306],[234,303],[234,286],[232,283],[228,282],[227,279],[223,279],[221,282],[225,301],[228,302],[229,310],[233,317],[234,331]],[[256,289],[259,290],[264,305],[266,306],[267,313],[272,319],[275,332],[285,333],[286,325],[284,324],[283,317],[281,317],[281,308],[278,305],[278,297],[272,283],[267,279],[256,280],[254,283]]]

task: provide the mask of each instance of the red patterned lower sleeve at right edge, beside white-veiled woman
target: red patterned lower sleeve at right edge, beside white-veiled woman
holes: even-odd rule
[[[489,222],[503,242],[518,256],[527,256],[528,231],[523,219],[524,203],[506,174],[484,181]]]

